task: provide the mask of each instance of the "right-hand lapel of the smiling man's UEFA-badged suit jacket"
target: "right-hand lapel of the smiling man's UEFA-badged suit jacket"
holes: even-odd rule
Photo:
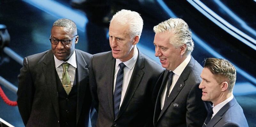
[[[167,98],[167,101],[164,104],[164,107],[159,115],[158,120],[161,118],[161,116],[164,114],[164,112],[170,106],[170,104],[173,102],[173,100],[176,98],[176,96],[180,93],[181,89],[185,86],[185,81],[188,79],[188,76],[192,70],[192,67],[194,67],[194,65],[195,65],[195,59],[193,57],[191,57],[191,60],[189,61],[188,65],[185,67],[185,69],[181,73],[178,81],[176,82],[175,86],[172,89],[172,92],[170,93],[169,97]],[[161,97],[161,95],[160,95],[160,97]]]

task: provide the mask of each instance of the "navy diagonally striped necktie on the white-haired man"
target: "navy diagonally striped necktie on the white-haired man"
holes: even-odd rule
[[[124,63],[119,64],[120,69],[117,72],[116,76],[116,87],[114,91],[114,112],[115,112],[115,119],[119,112],[120,101],[121,101],[121,93],[122,93],[122,85],[123,85],[123,78],[124,78]]]

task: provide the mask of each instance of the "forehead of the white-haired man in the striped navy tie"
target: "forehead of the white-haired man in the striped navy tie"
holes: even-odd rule
[[[109,25],[109,34],[111,36],[127,36],[128,24],[112,21]]]

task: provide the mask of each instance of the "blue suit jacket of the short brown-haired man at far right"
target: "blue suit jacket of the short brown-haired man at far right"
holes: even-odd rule
[[[235,97],[212,117],[206,127],[248,127],[244,111]]]

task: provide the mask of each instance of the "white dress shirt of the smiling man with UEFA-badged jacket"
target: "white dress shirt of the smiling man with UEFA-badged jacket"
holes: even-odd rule
[[[185,67],[188,65],[190,59],[191,59],[191,56],[189,55],[178,67],[176,67],[172,71],[174,74],[172,76],[172,85],[170,87],[170,90],[169,90],[169,93],[168,93],[168,97],[169,97],[170,93],[172,92],[172,89],[174,88],[176,82],[178,81],[181,73],[183,72]],[[168,80],[167,80],[167,82],[165,84],[164,91],[162,92],[162,95],[161,95],[161,110],[164,107],[164,100],[165,100],[165,95],[166,95],[166,91],[167,91],[167,85],[168,85]]]

